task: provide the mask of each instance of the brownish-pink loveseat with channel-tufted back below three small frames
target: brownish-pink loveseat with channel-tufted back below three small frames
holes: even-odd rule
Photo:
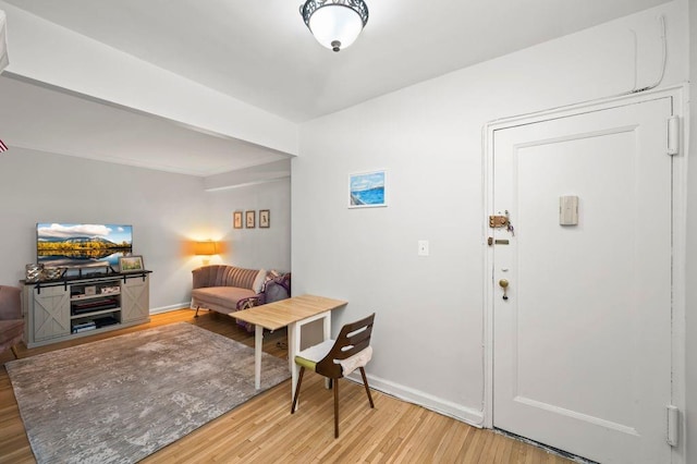
[[[291,296],[290,272],[211,265],[194,269],[192,274],[192,307],[196,308],[194,317],[198,317],[199,308],[230,315]],[[249,327],[247,329],[250,330]]]

